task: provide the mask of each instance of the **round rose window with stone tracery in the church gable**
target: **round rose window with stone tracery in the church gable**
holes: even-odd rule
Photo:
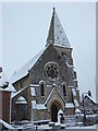
[[[60,79],[59,64],[50,61],[45,66],[45,74],[50,81],[58,81]]]

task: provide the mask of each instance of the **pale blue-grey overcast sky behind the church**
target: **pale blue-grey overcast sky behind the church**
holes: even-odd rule
[[[10,79],[44,49],[52,8],[73,48],[81,92],[96,93],[96,3],[3,3],[3,71]]]

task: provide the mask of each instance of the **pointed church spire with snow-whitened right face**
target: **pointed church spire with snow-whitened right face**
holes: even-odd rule
[[[50,23],[46,46],[48,46],[49,44],[54,44],[57,46],[71,47],[54,8],[52,12],[52,17],[51,17],[51,23]]]

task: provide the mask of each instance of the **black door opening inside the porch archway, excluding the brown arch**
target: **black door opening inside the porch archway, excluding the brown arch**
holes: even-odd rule
[[[58,107],[57,107],[57,105],[51,106],[51,121],[53,121],[53,122],[58,121]]]

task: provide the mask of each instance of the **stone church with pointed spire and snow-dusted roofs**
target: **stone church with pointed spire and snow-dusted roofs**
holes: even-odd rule
[[[12,85],[12,121],[58,120],[79,108],[72,47],[53,8],[46,47],[16,71]]]

